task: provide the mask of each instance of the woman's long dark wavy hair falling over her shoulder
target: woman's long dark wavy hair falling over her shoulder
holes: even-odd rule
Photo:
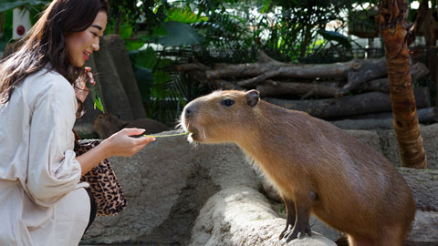
[[[87,29],[99,11],[108,12],[107,0],[54,0],[24,37],[23,45],[0,60],[0,103],[9,101],[16,86],[43,67],[56,70],[76,87],[86,79],[84,67],[69,59],[65,35]],[[78,100],[77,115],[83,111]]]

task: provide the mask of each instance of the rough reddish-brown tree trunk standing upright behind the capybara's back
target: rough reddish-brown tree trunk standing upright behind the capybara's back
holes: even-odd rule
[[[379,25],[385,46],[390,80],[392,124],[399,144],[401,166],[425,169],[426,155],[422,147],[422,135],[409,70],[408,26],[406,25],[408,10],[404,0],[381,0]]]

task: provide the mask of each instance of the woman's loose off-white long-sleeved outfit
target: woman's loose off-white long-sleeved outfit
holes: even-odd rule
[[[42,69],[0,104],[0,245],[78,245],[89,222],[65,77]]]

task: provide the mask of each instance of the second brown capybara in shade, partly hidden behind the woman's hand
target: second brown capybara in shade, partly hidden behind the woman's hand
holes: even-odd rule
[[[101,139],[110,138],[112,134],[122,128],[143,128],[145,129],[144,134],[169,130],[164,124],[151,118],[139,118],[128,122],[113,114],[99,114],[94,118],[93,128]]]

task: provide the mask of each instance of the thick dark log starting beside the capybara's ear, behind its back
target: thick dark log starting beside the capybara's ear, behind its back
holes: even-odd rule
[[[414,90],[417,108],[430,107],[429,88]],[[390,95],[381,92],[318,100],[285,100],[265,97],[267,102],[283,108],[307,112],[316,118],[337,118],[391,110]]]

